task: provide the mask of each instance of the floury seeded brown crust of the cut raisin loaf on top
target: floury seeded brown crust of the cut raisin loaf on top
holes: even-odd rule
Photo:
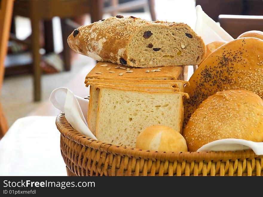
[[[134,64],[128,56],[129,43],[134,34],[141,28],[150,28],[152,26],[171,29],[176,29],[178,26],[184,26],[185,29],[187,29],[186,33],[191,33],[193,38],[196,38],[198,42],[202,43],[201,48],[203,54],[200,56],[198,63],[203,60],[206,50],[204,42],[188,25],[163,21],[150,22],[144,19],[134,19],[131,17],[109,17],[108,19],[94,22],[91,25],[81,26],[68,36],[68,45],[77,53],[87,55],[98,61],[113,62],[134,67],[156,67],[155,65],[140,66]]]

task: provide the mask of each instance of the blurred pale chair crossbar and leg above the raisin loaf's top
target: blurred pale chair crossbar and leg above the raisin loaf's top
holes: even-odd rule
[[[134,0],[121,4],[119,4],[119,0],[110,0],[110,4],[111,6],[104,8],[103,13],[111,13],[111,16],[116,16],[119,12],[148,6],[152,21],[156,21],[154,0]]]

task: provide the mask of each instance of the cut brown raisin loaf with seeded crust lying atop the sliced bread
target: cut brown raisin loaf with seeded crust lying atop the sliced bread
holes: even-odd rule
[[[77,53],[131,67],[197,65],[206,47],[188,25],[116,16],[81,26],[68,37]]]

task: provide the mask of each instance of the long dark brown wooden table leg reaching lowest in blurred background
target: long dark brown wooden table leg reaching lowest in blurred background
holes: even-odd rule
[[[34,101],[39,101],[41,98],[41,69],[39,54],[39,19],[31,17],[32,26],[32,56],[33,56],[33,83],[34,83]]]

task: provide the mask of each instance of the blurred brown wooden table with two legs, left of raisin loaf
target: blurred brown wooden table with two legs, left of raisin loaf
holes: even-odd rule
[[[51,20],[54,16],[59,16],[62,19],[62,39],[65,50],[64,59],[66,70],[68,70],[70,68],[70,50],[67,44],[67,36],[71,32],[66,30],[64,20],[66,18],[79,16],[85,13],[91,14],[92,22],[102,19],[103,0],[16,0],[14,3],[13,13],[14,15],[28,17],[31,20],[34,100],[39,101],[41,98],[39,22],[43,20]]]

